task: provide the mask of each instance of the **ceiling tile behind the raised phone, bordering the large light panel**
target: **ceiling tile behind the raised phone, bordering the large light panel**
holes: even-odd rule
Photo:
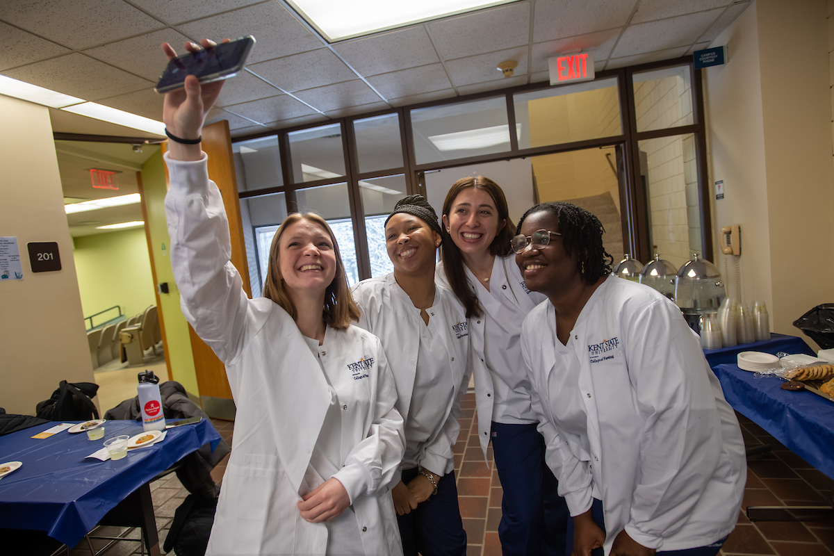
[[[262,3],[199,19],[178,26],[178,30],[194,40],[252,35],[256,43],[249,54],[249,63],[303,53],[322,46],[313,33],[277,2]]]

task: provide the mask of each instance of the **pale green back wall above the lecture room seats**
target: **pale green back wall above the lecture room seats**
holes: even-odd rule
[[[120,305],[129,318],[156,304],[143,228],[83,236],[73,243],[85,317]]]

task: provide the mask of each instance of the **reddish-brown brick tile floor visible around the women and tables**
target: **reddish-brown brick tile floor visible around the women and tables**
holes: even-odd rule
[[[795,453],[778,443],[749,419],[739,415],[748,448],[769,443],[771,453],[750,458],[744,506],[826,503],[831,500],[834,481],[812,468]],[[232,423],[214,420],[219,433],[232,442]],[[455,444],[455,473],[458,481],[460,513],[469,538],[469,556],[500,556],[498,523],[501,518],[501,485],[492,463],[484,462],[477,435],[475,394],[467,393],[460,416],[460,436]],[[214,480],[223,478],[225,461],[214,469]],[[168,534],[173,512],[188,493],[175,475],[161,478],[151,485],[153,507],[160,545]],[[124,529],[122,529],[124,531]],[[118,530],[116,531],[118,533]],[[111,532],[112,533],[112,532]],[[129,532],[138,538],[138,530]],[[117,543],[108,556],[138,553],[138,543]],[[89,554],[79,545],[73,556]],[[834,520],[828,522],[757,522],[751,523],[739,512],[736,530],[721,550],[723,556],[834,556]]]

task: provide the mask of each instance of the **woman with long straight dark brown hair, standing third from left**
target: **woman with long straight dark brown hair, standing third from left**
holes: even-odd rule
[[[521,323],[545,300],[525,287],[512,258],[504,192],[489,178],[462,178],[443,203],[441,281],[469,318],[478,438],[492,442],[504,496],[498,534],[505,556],[564,554],[564,498],[545,464],[521,358]]]

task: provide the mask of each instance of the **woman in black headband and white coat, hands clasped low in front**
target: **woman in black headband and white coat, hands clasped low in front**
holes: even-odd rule
[[[382,342],[405,420],[405,455],[390,486],[406,556],[466,553],[452,446],[470,338],[463,306],[435,284],[439,245],[435,209],[420,195],[400,199],[385,221],[394,272],[353,288],[359,326]]]

